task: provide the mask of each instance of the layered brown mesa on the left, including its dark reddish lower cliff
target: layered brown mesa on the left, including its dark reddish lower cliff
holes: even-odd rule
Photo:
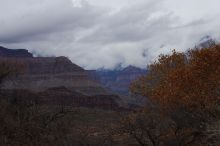
[[[90,80],[87,71],[66,57],[15,56],[4,56],[23,66],[21,73],[3,82],[2,93],[8,96],[27,100],[31,95],[41,104],[118,107],[118,96]]]

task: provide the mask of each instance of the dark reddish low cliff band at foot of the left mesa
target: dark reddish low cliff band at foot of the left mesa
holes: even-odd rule
[[[11,103],[19,105],[40,104],[74,106],[118,110],[119,97],[116,95],[84,95],[66,87],[49,88],[42,92],[30,90],[1,90]]]

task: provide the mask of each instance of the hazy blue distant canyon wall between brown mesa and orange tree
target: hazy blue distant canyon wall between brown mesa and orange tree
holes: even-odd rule
[[[113,92],[128,95],[131,82],[146,72],[144,69],[128,66],[122,70],[90,71],[90,77]]]

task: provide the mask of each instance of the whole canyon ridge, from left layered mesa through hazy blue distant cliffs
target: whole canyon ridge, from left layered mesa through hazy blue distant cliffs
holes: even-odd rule
[[[129,107],[129,85],[146,73],[133,66],[121,70],[84,70],[67,57],[33,57],[28,50],[5,47],[0,47],[0,59],[25,66],[22,73],[6,79],[1,87],[1,94],[16,102],[31,99],[40,104]]]

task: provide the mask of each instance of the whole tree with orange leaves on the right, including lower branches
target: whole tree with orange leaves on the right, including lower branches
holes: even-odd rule
[[[174,145],[194,143],[219,115],[220,45],[160,55],[130,89],[174,121]]]

